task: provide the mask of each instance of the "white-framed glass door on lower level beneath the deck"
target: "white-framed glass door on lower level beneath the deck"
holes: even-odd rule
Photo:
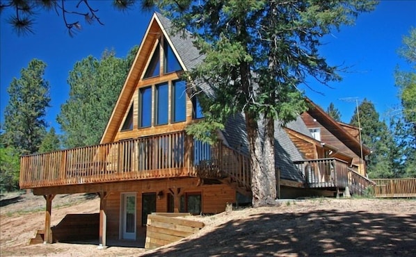
[[[122,239],[136,240],[136,193],[122,194]]]

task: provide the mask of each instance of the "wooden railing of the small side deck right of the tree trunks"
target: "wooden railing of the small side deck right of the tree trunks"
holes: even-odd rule
[[[336,158],[299,160],[294,162],[305,177],[309,188],[339,188],[346,186],[352,194],[363,194],[374,183]]]

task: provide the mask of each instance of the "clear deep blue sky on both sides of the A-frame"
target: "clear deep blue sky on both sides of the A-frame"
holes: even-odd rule
[[[111,1],[91,1],[91,5],[99,9],[97,15],[105,26],[83,24],[82,31],[73,38],[54,12],[38,15],[35,34],[26,36],[16,35],[6,23],[10,10],[1,13],[0,122],[8,103],[6,90],[31,59],[47,63],[45,79],[51,87],[51,108],[46,119],[59,131],[56,115],[69,96],[66,80],[74,63],[89,55],[99,58],[105,49],[114,49],[117,56],[125,57],[131,47],[141,43],[152,13],[143,13],[138,8],[118,12],[113,10]],[[390,110],[399,107],[394,69],[397,65],[408,67],[397,56],[397,49],[412,26],[416,27],[416,1],[384,0],[374,12],[360,15],[355,26],[344,26],[340,32],[326,36],[323,39],[326,44],[321,47],[323,56],[330,65],[343,65],[349,70],[341,73],[342,82],[330,84],[333,89],[310,79],[310,86],[317,92],[305,88],[307,97],[324,109],[332,101],[340,110],[342,121],[347,123],[355,102],[343,99],[367,98],[375,104],[381,117],[388,119]]]

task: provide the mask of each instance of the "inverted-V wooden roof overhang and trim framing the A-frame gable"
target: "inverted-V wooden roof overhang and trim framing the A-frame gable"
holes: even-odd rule
[[[133,97],[136,85],[141,76],[143,76],[142,74],[145,71],[145,68],[147,68],[151,62],[148,56],[150,56],[151,52],[154,50],[154,45],[157,44],[157,41],[161,38],[161,33],[163,34],[163,38],[166,39],[164,41],[168,43],[167,51],[171,51],[171,53],[169,53],[170,58],[175,57],[175,61],[182,67],[182,70],[187,70],[181,56],[179,56],[177,49],[175,49],[173,41],[170,39],[170,34],[168,33],[170,26],[171,24],[168,19],[164,18],[159,13],[154,13],[149,26],[147,26],[141,45],[134,58],[134,62],[131,65],[125,84],[115,103],[113,113],[111,113],[111,117],[107,123],[104,134],[102,135],[100,144],[113,142],[115,139],[115,135],[122,126],[122,119],[125,117],[127,111],[129,111],[129,105],[131,104],[131,98]]]

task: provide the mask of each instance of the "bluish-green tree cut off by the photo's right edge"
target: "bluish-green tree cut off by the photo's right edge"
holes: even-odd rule
[[[410,35],[403,37],[399,55],[410,64],[410,70],[398,67],[394,74],[403,107],[395,128],[403,154],[403,176],[416,177],[416,28],[411,28]]]

